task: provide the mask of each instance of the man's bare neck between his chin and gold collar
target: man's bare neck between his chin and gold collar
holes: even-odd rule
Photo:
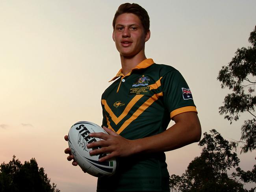
[[[122,74],[126,76],[126,74],[128,74],[132,70],[132,68],[134,68],[139,63],[141,63],[141,61],[147,59],[147,57],[143,52],[141,54],[137,54],[132,57],[126,57],[124,55],[120,55],[120,59],[121,59],[121,65],[122,65]]]

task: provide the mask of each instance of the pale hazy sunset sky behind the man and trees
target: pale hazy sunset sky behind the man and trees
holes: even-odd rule
[[[100,98],[121,68],[112,20],[122,0],[0,1],[0,163],[35,158],[61,192],[96,191],[96,177],[67,161],[70,126],[102,122]],[[133,3],[133,2],[130,2]],[[217,75],[237,48],[249,46],[255,0],[138,0],[150,16],[146,56],[186,79],[202,133],[216,129],[239,140],[243,120],[219,114],[224,96]],[[173,122],[170,123],[170,126]],[[170,174],[181,175],[199,156],[197,143],[166,152]],[[239,154],[239,150],[237,151]],[[252,170],[255,151],[239,155]]]

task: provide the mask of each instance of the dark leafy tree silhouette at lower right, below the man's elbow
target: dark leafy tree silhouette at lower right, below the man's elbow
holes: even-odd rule
[[[252,171],[238,167],[239,158],[233,142],[225,140],[215,129],[204,133],[199,142],[202,152],[189,163],[182,176],[171,175],[171,192],[253,192],[256,187],[246,190],[244,183],[256,182],[256,165]],[[231,169],[236,172],[229,174]]]

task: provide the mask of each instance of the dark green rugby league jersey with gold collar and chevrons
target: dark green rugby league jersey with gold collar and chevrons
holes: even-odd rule
[[[124,138],[156,135],[175,115],[197,113],[186,81],[172,66],[145,59],[126,76],[119,70],[113,80],[102,94],[102,126]],[[97,191],[169,191],[165,153],[119,158],[114,175],[98,178]]]

